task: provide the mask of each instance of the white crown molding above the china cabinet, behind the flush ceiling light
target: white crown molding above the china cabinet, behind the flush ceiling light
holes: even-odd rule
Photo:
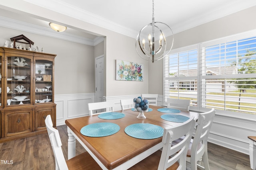
[[[95,39],[96,41],[94,41],[93,39],[88,39],[88,38],[80,37],[78,35],[72,35],[72,34],[65,33],[65,32],[61,32],[61,33],[56,32],[56,31],[52,30],[51,28],[40,27],[40,26],[33,25],[30,23],[12,20],[10,18],[5,18],[5,17],[1,17],[1,16],[0,16],[0,26],[17,29],[20,31],[26,31],[26,32],[30,32],[30,33],[35,33],[35,34],[39,34],[39,35],[44,35],[44,36],[48,36],[48,37],[54,37],[54,38],[58,38],[58,39],[66,40],[66,41],[72,41],[75,43],[80,43],[80,44],[90,45],[90,46],[95,46],[98,43],[100,43],[102,39],[104,40],[104,38],[102,37],[102,39],[96,38]]]

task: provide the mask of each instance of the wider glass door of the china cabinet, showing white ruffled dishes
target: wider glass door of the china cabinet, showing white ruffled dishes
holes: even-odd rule
[[[31,104],[31,59],[7,57],[7,106]]]

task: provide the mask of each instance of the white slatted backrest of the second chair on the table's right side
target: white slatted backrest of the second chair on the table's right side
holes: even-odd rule
[[[204,153],[207,154],[207,141],[212,127],[212,122],[215,115],[215,109],[212,108],[210,111],[200,113],[197,121],[196,134],[193,139],[191,147],[191,162],[192,159],[199,160]],[[201,143],[202,145],[198,145]],[[198,148],[200,146],[200,148]],[[194,162],[195,162],[194,160]]]

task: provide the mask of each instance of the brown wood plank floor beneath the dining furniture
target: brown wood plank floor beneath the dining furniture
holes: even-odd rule
[[[67,127],[66,125],[62,125],[58,126],[57,129],[60,132],[64,157],[67,160]],[[76,142],[76,154],[82,152],[85,152],[84,148],[80,143]],[[226,149],[212,143],[208,143],[208,159],[210,170],[251,170],[249,155]],[[54,154],[47,133],[16,141],[0,143],[0,170],[54,169]],[[190,170],[189,163],[187,163],[186,169]]]

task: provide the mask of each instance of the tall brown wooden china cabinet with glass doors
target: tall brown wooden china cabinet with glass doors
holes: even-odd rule
[[[56,127],[55,57],[0,47],[0,143],[46,133],[47,115]]]

